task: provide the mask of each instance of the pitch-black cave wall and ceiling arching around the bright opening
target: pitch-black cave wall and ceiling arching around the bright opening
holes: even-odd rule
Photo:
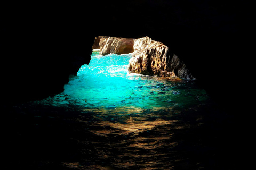
[[[236,2],[103,1],[6,11],[1,21],[6,103],[63,91],[69,75],[89,63],[97,36],[161,41],[219,103],[234,100],[230,80],[238,76],[247,21]]]

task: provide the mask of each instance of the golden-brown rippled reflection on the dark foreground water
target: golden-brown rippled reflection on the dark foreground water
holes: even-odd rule
[[[173,151],[179,145],[173,138],[175,131],[186,129],[172,117],[171,108],[152,109],[113,108],[91,110],[94,121],[89,123],[89,133],[93,135],[90,146],[97,160],[89,169],[172,169],[175,159]],[[161,111],[170,114],[161,117]],[[78,120],[79,121],[79,120]],[[171,155],[171,156],[170,156]],[[102,162],[109,162],[111,166]],[[67,167],[83,166],[77,163],[64,163]],[[83,168],[82,168],[83,169]],[[144,169],[144,168],[140,168]]]

